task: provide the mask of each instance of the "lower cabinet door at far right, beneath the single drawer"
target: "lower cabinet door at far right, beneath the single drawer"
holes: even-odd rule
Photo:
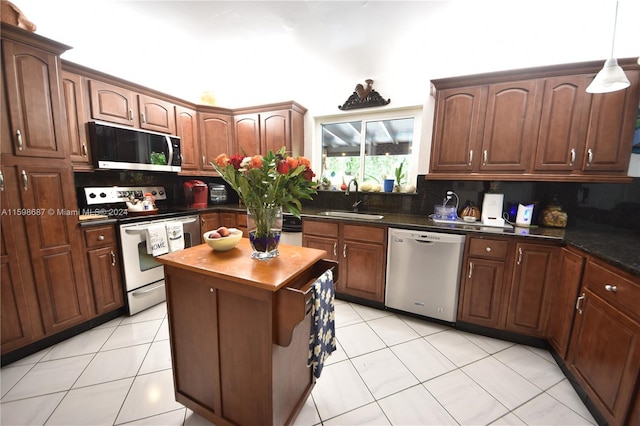
[[[640,371],[640,326],[583,287],[569,368],[609,424],[622,425]]]

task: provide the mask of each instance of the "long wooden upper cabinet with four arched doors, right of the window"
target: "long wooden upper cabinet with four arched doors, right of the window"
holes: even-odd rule
[[[589,94],[601,62],[433,80],[427,179],[629,182],[640,68],[625,90]]]

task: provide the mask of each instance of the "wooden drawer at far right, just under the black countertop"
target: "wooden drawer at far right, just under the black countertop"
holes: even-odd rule
[[[583,285],[624,314],[640,320],[640,280],[637,278],[623,276],[614,267],[590,259],[585,268]]]

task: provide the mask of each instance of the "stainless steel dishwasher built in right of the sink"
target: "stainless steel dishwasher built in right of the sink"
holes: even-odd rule
[[[388,308],[456,321],[464,235],[389,228]]]

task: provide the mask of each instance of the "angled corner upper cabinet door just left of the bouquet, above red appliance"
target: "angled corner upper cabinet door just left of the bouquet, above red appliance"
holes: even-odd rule
[[[201,170],[215,171],[210,164],[222,153],[231,156],[233,145],[233,119],[230,115],[200,113]]]

